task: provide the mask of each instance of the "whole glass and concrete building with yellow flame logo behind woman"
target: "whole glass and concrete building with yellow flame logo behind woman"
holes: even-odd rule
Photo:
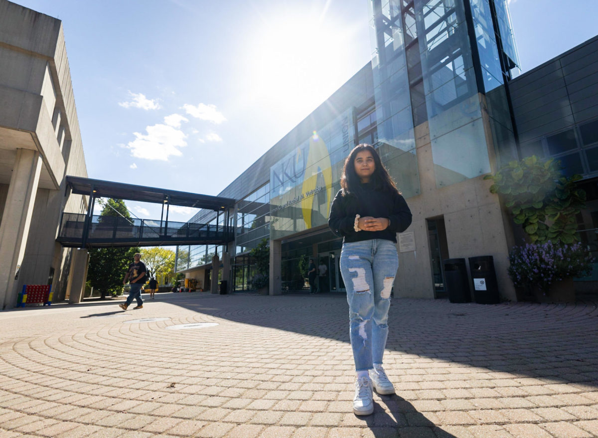
[[[205,290],[215,291],[216,275],[229,290],[251,288],[249,251],[267,239],[270,294],[303,288],[310,257],[327,264],[328,290],[344,292],[341,239],[327,218],[344,158],[368,142],[413,212],[398,236],[395,296],[444,297],[443,260],[492,255],[501,298],[516,300],[512,221],[483,177],[541,148],[596,186],[596,40],[518,78],[506,0],[368,4],[372,62],[221,191],[237,200],[234,242],[179,247],[176,270]],[[575,93],[565,101],[568,87]],[[571,130],[573,143],[555,147],[553,135],[570,140]],[[598,208],[590,199],[579,229],[591,230],[582,232],[591,247]],[[222,220],[200,211],[191,221]]]

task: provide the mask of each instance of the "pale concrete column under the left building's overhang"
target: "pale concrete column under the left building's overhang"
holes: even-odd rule
[[[0,304],[2,310],[17,304],[17,273],[27,244],[37,193],[41,156],[38,151],[17,149],[0,225]]]

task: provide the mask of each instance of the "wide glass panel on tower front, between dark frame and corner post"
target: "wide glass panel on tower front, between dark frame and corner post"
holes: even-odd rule
[[[414,2],[437,187],[490,172],[463,1]]]

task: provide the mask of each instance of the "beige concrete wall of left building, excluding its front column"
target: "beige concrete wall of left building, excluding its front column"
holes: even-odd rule
[[[0,178],[11,171],[16,148],[38,150],[43,160],[16,290],[46,284],[53,268],[60,299],[72,258],[56,242],[60,218],[87,207],[86,196],[65,196],[66,175],[87,177],[65,38],[60,20],[6,0],[0,0],[0,101]],[[7,190],[0,184],[0,214]]]

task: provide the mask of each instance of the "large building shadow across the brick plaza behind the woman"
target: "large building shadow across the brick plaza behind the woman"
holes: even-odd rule
[[[169,302],[231,321],[349,343],[344,295],[288,297],[208,294]],[[404,363],[429,358],[451,367],[463,364],[482,368],[479,372],[505,372],[510,378],[548,378],[598,387],[594,305],[393,299],[389,328],[386,348],[404,353]]]

